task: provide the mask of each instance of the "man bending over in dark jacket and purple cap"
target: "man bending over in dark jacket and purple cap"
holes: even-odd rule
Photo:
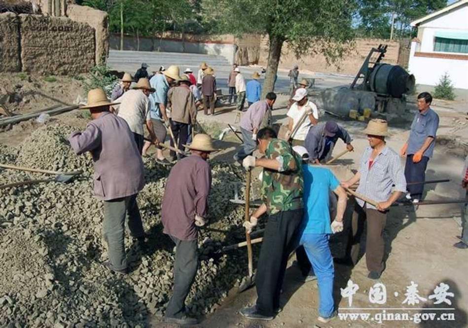
[[[305,139],[305,147],[310,160],[316,164],[330,160],[338,139],[343,140],[348,151],[354,150],[351,145],[353,140],[348,131],[336,124],[336,122],[328,121],[312,126]]]

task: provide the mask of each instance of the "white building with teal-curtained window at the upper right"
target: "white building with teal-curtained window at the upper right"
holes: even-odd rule
[[[417,84],[436,85],[447,72],[455,88],[468,89],[468,0],[460,0],[411,22],[408,70]]]

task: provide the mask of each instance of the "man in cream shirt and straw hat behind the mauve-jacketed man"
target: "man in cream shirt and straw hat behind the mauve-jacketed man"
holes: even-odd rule
[[[153,142],[156,142],[156,136],[153,133],[152,123],[149,119],[149,95],[154,89],[149,85],[147,78],[138,80],[133,89],[125,92],[117,100],[118,116],[127,121],[130,130],[133,132],[135,142],[137,143],[140,154],[142,153],[144,143],[144,126],[148,129]]]

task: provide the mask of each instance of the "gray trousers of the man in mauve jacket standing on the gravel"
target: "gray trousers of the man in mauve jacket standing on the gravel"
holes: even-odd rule
[[[125,256],[125,219],[133,237],[144,235],[142,217],[137,204],[137,195],[104,201],[104,239],[108,244],[109,261],[115,270],[127,268]]]

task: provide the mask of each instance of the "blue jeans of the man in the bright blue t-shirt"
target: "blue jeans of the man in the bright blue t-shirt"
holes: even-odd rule
[[[303,233],[299,245],[304,246],[319,284],[319,315],[328,318],[334,311],[333,257],[325,233]]]

